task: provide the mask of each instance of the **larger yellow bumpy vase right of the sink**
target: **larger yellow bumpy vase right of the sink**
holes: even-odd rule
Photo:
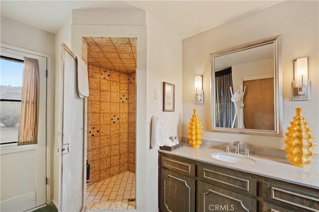
[[[307,168],[314,161],[312,155],[316,152],[313,151],[313,146],[316,146],[317,143],[313,142],[315,136],[311,135],[312,129],[308,128],[302,111],[302,108],[296,108],[294,121],[290,122],[291,126],[287,128],[288,132],[285,133],[287,138],[284,142],[287,145],[284,149],[288,153],[287,158],[290,160],[290,164]]]

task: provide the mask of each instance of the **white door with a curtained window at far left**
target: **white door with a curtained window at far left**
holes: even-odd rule
[[[14,50],[1,44],[1,56],[23,60],[23,56],[37,59],[40,69],[40,103],[38,143],[17,146],[17,127],[1,123],[0,134],[0,193],[1,212],[22,212],[46,204],[46,64],[45,56],[29,50]],[[28,54],[29,52],[31,54]],[[40,53],[39,53],[40,54]],[[2,63],[2,61],[1,61]],[[3,62],[4,63],[4,62]],[[14,66],[13,64],[9,67]],[[1,67],[1,85],[8,83],[14,70]],[[17,77],[12,75],[12,78]],[[13,83],[13,81],[11,82]],[[5,85],[7,87],[12,85]],[[18,86],[17,86],[18,87]],[[4,87],[1,87],[3,89]],[[3,92],[3,90],[1,90]],[[1,96],[4,93],[1,94]],[[1,100],[2,104],[6,100]],[[3,108],[2,108],[3,109]],[[3,111],[1,111],[2,113]]]

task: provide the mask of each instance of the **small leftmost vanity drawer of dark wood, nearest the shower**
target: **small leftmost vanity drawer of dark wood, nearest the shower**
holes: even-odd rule
[[[195,177],[195,164],[187,160],[161,156],[161,166],[179,174]]]

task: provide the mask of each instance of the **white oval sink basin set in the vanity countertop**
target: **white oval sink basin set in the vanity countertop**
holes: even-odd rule
[[[234,153],[227,153],[227,152],[216,152],[210,155],[212,158],[217,160],[221,160],[228,163],[237,163],[237,164],[255,164],[257,163],[256,160],[244,156],[238,155]]]

